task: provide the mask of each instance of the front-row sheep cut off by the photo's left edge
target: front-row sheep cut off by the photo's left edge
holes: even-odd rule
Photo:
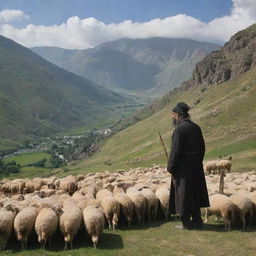
[[[13,231],[15,213],[6,207],[0,209],[0,250],[4,250]]]

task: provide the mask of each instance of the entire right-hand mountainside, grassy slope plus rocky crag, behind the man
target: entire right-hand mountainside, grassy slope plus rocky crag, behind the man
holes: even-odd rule
[[[74,163],[72,173],[91,172],[96,166],[98,171],[166,166],[158,131],[169,151],[173,131],[170,112],[179,101],[191,106],[191,118],[202,128],[206,159],[232,156],[232,172],[255,170],[255,50],[256,24],[206,56],[196,65],[192,78],[179,88],[121,122],[120,129],[128,127],[109,138],[99,153]]]

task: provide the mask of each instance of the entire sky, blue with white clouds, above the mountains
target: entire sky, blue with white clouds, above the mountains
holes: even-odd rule
[[[223,43],[256,23],[256,0],[0,0],[0,35],[86,49],[127,38]]]

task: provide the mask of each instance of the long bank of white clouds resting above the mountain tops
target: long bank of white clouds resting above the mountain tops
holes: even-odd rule
[[[229,15],[216,18],[209,23],[185,14],[143,23],[126,20],[118,24],[105,24],[95,18],[80,19],[75,16],[60,25],[53,26],[31,24],[20,29],[10,24],[3,24],[0,25],[0,34],[27,47],[58,46],[70,49],[94,47],[122,37],[183,37],[221,42],[229,40],[231,35],[256,22],[256,0],[232,0],[232,2],[233,8]],[[26,15],[21,12],[20,16],[17,14],[16,17],[26,17]]]

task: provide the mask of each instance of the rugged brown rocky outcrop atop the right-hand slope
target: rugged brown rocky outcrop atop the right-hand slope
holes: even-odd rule
[[[191,85],[210,86],[238,77],[256,65],[256,24],[236,33],[219,50],[198,62]]]

